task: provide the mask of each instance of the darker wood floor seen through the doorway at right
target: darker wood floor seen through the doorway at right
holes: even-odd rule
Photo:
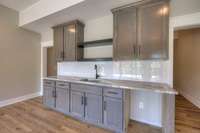
[[[200,109],[176,96],[176,133],[200,133]]]

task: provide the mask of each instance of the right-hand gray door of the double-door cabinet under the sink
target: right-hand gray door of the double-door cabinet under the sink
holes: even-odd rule
[[[85,119],[89,122],[102,123],[102,96],[86,93]]]

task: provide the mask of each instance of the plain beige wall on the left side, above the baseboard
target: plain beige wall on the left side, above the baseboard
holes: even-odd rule
[[[40,35],[19,28],[18,15],[0,5],[0,106],[40,91]]]

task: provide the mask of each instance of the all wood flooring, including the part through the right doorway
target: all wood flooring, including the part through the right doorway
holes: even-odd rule
[[[91,126],[42,105],[41,98],[0,109],[0,133],[112,133]],[[130,122],[128,133],[161,133],[159,128]],[[200,109],[176,97],[176,133],[200,133]]]

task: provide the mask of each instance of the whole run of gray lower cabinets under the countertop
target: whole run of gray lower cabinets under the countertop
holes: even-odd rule
[[[130,91],[44,80],[44,104],[56,111],[116,133],[126,133]]]

